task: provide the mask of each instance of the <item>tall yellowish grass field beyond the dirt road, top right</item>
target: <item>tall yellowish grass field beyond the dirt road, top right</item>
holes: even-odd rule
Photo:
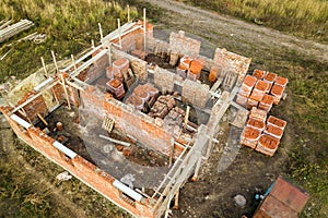
[[[328,43],[328,1],[325,0],[177,1]]]

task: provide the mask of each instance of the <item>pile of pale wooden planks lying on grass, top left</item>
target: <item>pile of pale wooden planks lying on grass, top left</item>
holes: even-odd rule
[[[30,28],[31,26],[33,26],[33,22],[28,21],[28,20],[21,20],[20,22],[10,25],[5,28],[0,29],[0,43],[9,39],[10,37]]]

